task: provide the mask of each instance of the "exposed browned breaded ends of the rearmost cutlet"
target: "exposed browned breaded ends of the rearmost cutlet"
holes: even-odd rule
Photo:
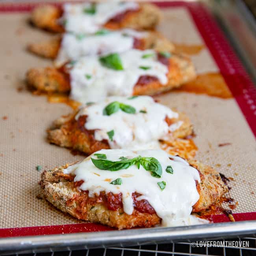
[[[48,30],[50,32],[64,32],[63,26],[58,23],[61,17],[61,9],[52,5],[41,5],[35,7],[31,14],[31,22],[37,28]],[[134,11],[121,22],[108,22],[107,28],[134,28],[134,29],[154,29],[161,20],[161,11],[153,4],[140,4],[139,11]]]

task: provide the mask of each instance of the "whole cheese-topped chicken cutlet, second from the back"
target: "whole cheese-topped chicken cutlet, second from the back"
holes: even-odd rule
[[[140,32],[132,29],[100,29],[95,33],[63,33],[63,35],[41,43],[33,43],[28,50],[39,56],[54,59],[56,66],[75,61],[83,56],[121,53],[130,49],[173,52],[174,45],[161,33]]]

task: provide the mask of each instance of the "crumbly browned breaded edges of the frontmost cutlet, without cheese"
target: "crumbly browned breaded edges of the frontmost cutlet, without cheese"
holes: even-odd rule
[[[213,168],[195,160],[189,161],[189,163],[198,168],[201,177],[201,182],[197,184],[200,198],[193,206],[193,212],[196,213],[206,210],[212,204],[217,203],[220,197],[228,191],[228,188],[224,185],[219,173]],[[122,208],[112,211],[108,210],[104,204],[98,202],[88,203],[86,200],[87,194],[74,188],[72,181],[65,180],[63,168],[56,167],[52,171],[44,171],[41,174],[40,182],[46,200],[59,210],[69,213],[78,219],[102,223],[118,229],[136,226],[151,227],[161,223],[161,219],[156,214],[141,213],[134,210],[132,215],[128,215],[124,213]],[[76,200],[76,198],[81,197],[84,197],[82,206],[81,201]]]

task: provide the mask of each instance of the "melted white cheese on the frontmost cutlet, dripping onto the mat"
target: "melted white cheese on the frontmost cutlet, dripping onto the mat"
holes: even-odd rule
[[[80,163],[71,165],[63,172],[76,175],[74,181],[83,180],[80,189],[89,191],[89,197],[99,195],[101,191],[113,194],[122,193],[122,204],[124,212],[132,214],[134,210],[132,193],[140,193],[137,200],[145,199],[154,208],[156,214],[162,219],[162,226],[179,226],[188,224],[202,224],[202,221],[192,217],[192,206],[198,201],[199,194],[195,180],[200,182],[198,171],[189,163],[179,157],[169,155],[163,150],[132,151],[124,149],[100,150],[98,154],[106,154],[106,158],[112,161],[120,161],[120,157],[135,158],[154,157],[162,168],[161,178],[152,177],[142,165],[139,169],[131,165],[128,169],[119,171],[106,171],[98,169],[91,158],[91,155]],[[167,173],[165,169],[171,165],[173,174]],[[110,184],[110,181],[122,179],[121,185]],[[166,186],[161,191],[158,182],[165,181]]]

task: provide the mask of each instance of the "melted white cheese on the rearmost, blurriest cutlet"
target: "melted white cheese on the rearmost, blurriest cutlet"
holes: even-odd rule
[[[65,20],[65,30],[74,33],[95,33],[108,20],[128,10],[137,10],[139,5],[134,2],[98,3],[95,13],[88,13],[91,3],[64,4],[62,19]]]

